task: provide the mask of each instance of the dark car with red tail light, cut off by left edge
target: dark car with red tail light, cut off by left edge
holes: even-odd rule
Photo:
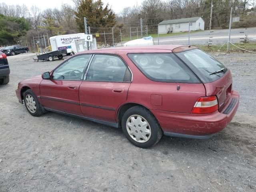
[[[8,84],[10,68],[6,54],[0,52],[0,84]]]

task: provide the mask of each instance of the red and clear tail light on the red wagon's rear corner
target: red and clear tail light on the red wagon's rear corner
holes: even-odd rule
[[[213,113],[218,110],[218,99],[216,96],[208,96],[208,97],[200,97],[194,108],[192,113],[194,114],[206,114]]]

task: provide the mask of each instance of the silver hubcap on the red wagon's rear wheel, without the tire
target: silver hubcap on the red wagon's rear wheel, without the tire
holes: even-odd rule
[[[147,142],[151,136],[149,123],[140,115],[132,115],[127,119],[126,130],[130,137],[139,143]]]

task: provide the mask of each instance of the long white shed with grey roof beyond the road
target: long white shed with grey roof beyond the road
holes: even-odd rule
[[[190,31],[204,30],[204,20],[202,17],[163,20],[158,23],[158,33],[186,32],[189,27]]]

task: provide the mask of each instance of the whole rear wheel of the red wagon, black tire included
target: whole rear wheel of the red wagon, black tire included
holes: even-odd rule
[[[140,148],[154,146],[163,135],[163,131],[154,115],[142,106],[134,106],[124,113],[122,116],[122,130],[126,138]]]

